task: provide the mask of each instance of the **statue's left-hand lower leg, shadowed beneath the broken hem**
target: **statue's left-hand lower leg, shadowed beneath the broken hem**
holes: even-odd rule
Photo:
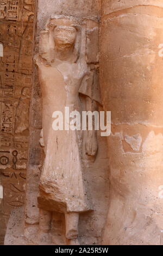
[[[49,231],[51,231],[52,212],[40,209],[39,240],[41,243],[49,241]]]

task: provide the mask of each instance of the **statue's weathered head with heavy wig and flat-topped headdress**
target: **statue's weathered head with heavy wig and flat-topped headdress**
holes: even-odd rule
[[[46,29],[40,34],[40,55],[48,64],[53,63],[56,58],[66,60],[68,54],[71,62],[76,62],[80,46],[81,31],[78,20],[71,16],[52,16]]]

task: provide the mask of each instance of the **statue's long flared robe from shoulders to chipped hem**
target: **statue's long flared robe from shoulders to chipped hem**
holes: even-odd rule
[[[45,162],[40,179],[39,207],[48,211],[90,210],[83,182],[82,150],[78,131],[54,131],[53,112],[65,106],[79,111],[79,88],[87,72],[86,63],[46,66],[38,62],[42,87]]]

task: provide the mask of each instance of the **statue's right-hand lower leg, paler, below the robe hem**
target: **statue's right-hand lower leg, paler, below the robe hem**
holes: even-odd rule
[[[78,225],[79,214],[76,212],[70,212],[65,214],[66,221],[66,238],[69,240],[69,245],[79,245],[78,242]]]

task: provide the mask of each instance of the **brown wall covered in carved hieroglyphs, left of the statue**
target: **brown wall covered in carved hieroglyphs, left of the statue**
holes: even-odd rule
[[[28,157],[28,115],[32,85],[32,0],[0,1],[0,237],[5,235],[10,211],[24,204]],[[23,22],[23,23],[22,23]]]

